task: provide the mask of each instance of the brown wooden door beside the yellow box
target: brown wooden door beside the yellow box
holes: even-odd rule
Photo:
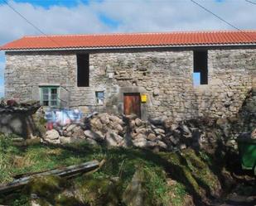
[[[141,96],[139,93],[123,93],[123,112],[141,117]]]

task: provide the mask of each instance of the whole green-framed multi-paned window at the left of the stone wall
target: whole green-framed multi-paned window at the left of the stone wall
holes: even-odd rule
[[[59,107],[59,88],[54,86],[40,87],[41,98],[40,103],[42,106]]]

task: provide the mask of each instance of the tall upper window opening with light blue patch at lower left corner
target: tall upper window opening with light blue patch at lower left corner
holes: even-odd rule
[[[205,51],[194,51],[194,85],[208,84],[208,55]]]

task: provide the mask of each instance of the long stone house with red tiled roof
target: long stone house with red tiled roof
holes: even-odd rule
[[[256,87],[256,31],[25,36],[0,48],[6,98],[45,107],[227,117]]]

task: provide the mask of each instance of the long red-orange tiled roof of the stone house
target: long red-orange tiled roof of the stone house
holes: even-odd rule
[[[255,31],[190,31],[65,36],[24,36],[0,50],[56,50],[149,46],[255,45]]]

